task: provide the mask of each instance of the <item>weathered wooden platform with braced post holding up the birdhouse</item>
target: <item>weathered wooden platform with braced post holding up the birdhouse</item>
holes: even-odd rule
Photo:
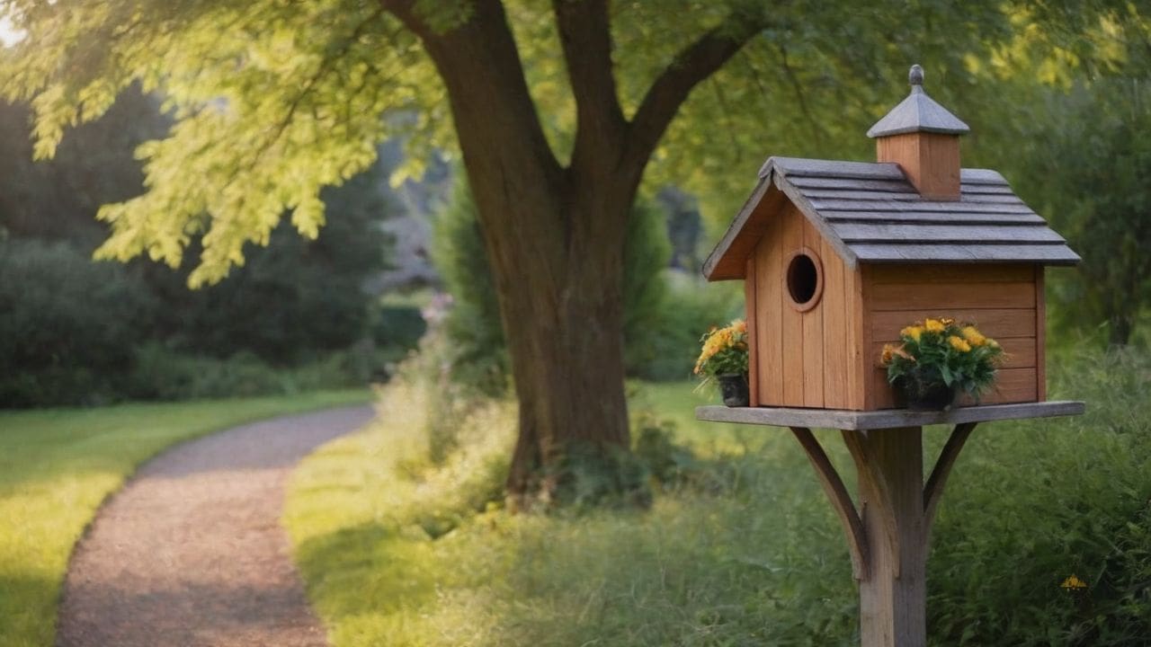
[[[788,427],[847,536],[860,591],[862,647],[927,645],[927,555],[936,508],[955,458],[978,423],[1078,416],[1082,402],[963,406],[950,411],[847,411],[768,406],[700,406],[714,423]],[[923,480],[923,426],[954,425]],[[859,504],[811,433],[839,429],[855,463]]]

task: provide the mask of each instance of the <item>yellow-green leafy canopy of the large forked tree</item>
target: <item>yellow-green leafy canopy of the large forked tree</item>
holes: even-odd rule
[[[702,50],[746,40],[684,106],[655,152],[664,176],[723,188],[746,184],[765,150],[864,151],[860,128],[898,94],[898,71],[908,61],[928,64],[929,83],[940,79],[933,92],[959,96],[973,83],[971,58],[996,45],[1034,32],[1074,52],[1078,43],[1067,35],[1082,22],[1135,10],[1123,2],[1095,3],[1093,13],[992,1],[884,2],[864,10],[814,1],[617,2],[604,16],[609,51],[573,41],[580,56],[610,55],[608,82],[572,77],[556,55],[574,36],[561,37],[554,14],[579,3],[506,7],[555,157],[569,161],[576,145],[580,92],[573,81],[604,83],[642,125],[645,108],[674,114],[677,106],[663,102],[680,97],[660,93],[686,93],[672,77],[706,59]],[[138,151],[147,192],[101,210],[113,235],[99,253],[146,253],[178,265],[203,236],[191,275],[200,284],[243,262],[245,242],[266,244],[285,210],[314,237],[323,224],[320,189],[365,169],[389,135],[410,137],[402,174],[419,173],[428,146],[451,147],[445,89],[402,16],[416,13],[430,29],[450,30],[471,18],[475,3],[13,0],[6,12],[28,37],[2,58],[0,91],[31,101],[38,158],[51,157],[67,128],[100,116],[134,82],[161,93],[175,125]],[[609,25],[564,26],[576,28],[603,28],[609,36]],[[754,38],[740,33],[749,30]]]

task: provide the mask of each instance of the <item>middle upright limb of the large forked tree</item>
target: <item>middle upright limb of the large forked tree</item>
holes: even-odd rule
[[[609,157],[618,154],[618,145],[626,127],[612,74],[608,2],[552,0],[551,7],[567,64],[567,77],[576,97],[577,127],[572,167],[602,168],[603,153]],[[604,146],[615,150],[603,151]]]

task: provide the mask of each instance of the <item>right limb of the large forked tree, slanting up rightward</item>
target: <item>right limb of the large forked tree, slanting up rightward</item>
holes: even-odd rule
[[[632,117],[625,163],[645,165],[692,89],[722,68],[764,26],[762,17],[732,13],[677,54],[648,89]]]

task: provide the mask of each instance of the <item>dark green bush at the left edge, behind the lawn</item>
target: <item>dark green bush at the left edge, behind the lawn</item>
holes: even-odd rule
[[[0,406],[115,397],[154,303],[132,273],[66,243],[0,242]]]

